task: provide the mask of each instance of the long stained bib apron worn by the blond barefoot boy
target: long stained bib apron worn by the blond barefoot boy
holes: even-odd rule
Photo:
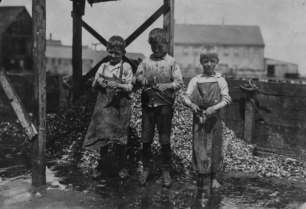
[[[200,79],[199,79],[200,81]],[[201,110],[220,103],[220,87],[215,82],[196,84],[193,103]],[[205,123],[193,114],[192,126],[192,167],[197,173],[218,172],[223,164],[222,120],[220,111],[207,117]]]

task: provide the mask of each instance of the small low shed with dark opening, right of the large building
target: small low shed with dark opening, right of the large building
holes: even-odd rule
[[[265,66],[267,77],[294,79],[299,77],[298,66],[294,63],[265,58]]]

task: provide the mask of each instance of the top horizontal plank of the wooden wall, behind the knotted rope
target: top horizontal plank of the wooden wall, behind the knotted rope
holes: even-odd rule
[[[248,81],[226,79],[230,92],[242,92],[240,85],[248,84]],[[275,96],[287,97],[306,97],[306,85],[294,83],[278,83],[278,82],[260,82],[255,81],[252,84],[256,85],[260,90],[271,93]],[[264,93],[259,93],[264,94]]]

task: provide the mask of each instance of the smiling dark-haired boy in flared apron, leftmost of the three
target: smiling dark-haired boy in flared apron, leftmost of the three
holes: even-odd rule
[[[124,168],[128,129],[131,120],[132,103],[129,93],[132,92],[132,68],[121,58],[125,54],[125,40],[112,36],[107,43],[109,62],[103,63],[92,83],[94,90],[99,90],[95,110],[91,118],[83,146],[92,150],[100,148],[98,170],[93,178],[105,175],[107,152],[110,143],[118,144],[119,177],[129,176]]]

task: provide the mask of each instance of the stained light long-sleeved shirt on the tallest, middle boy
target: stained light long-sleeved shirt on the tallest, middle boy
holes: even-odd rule
[[[170,83],[173,87],[173,89],[166,89],[163,92],[145,91],[147,87],[143,87],[141,93],[142,104],[150,107],[174,105],[174,92],[183,87],[183,79],[181,69],[173,57],[168,55],[168,53],[162,58],[157,58],[154,54],[146,57],[139,64],[136,74],[132,78],[134,85],[137,76],[140,74],[144,75],[148,84],[151,86],[155,86],[159,83]]]

